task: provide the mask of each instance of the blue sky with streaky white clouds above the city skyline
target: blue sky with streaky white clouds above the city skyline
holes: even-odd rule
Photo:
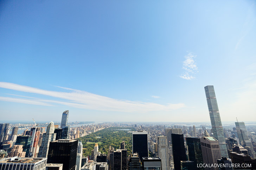
[[[2,121],[255,121],[255,1],[1,1]]]

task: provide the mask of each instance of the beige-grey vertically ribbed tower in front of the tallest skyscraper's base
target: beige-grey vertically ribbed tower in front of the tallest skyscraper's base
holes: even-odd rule
[[[200,138],[204,164],[217,164],[221,159],[219,142],[214,137]],[[206,167],[205,170],[218,170],[218,167]]]

